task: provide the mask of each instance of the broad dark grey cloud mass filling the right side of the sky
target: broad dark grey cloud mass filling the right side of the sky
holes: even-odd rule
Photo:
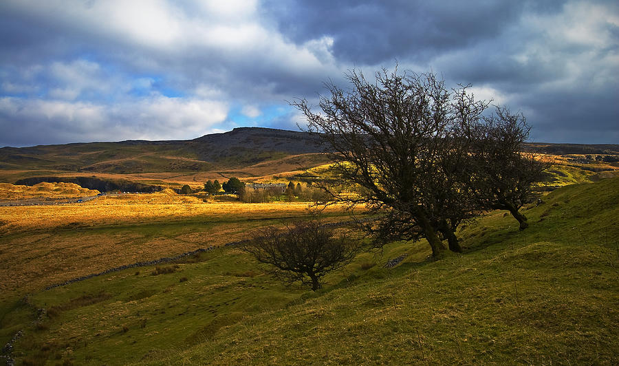
[[[486,89],[482,96],[527,111],[538,140],[619,142],[612,1],[269,5],[283,34],[298,43],[330,36],[343,63],[391,66],[397,59],[416,71],[433,69],[451,85]],[[607,81],[591,86],[600,78]]]

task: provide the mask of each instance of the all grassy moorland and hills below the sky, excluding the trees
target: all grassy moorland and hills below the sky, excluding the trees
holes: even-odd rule
[[[616,365],[619,146],[525,149],[551,164],[542,201],[523,208],[530,228],[491,211],[459,229],[461,255],[433,261],[424,240],[395,241],[361,252],[316,292],[284,286],[226,245],[308,217],[310,202],[199,192],[233,176],[307,186],[329,164],[307,136],[235,129],[188,142],[0,149],[3,356],[23,365]],[[97,196],[100,186],[76,177],[121,185]],[[16,184],[24,179],[34,180]],[[122,193],[122,184],[158,189]],[[184,184],[195,192],[178,194]],[[338,206],[322,216],[349,219]]]

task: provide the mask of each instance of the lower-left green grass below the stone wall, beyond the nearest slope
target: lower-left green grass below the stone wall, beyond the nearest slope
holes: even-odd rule
[[[84,363],[89,356],[92,363],[122,364],[139,360],[153,348],[197,344],[240,320],[240,314],[279,308],[301,292],[289,293],[263,275],[248,277],[245,271],[230,268],[231,263],[252,267],[235,250],[210,252],[201,260],[179,263],[177,270],[158,276],[120,272],[37,294],[32,300],[37,306],[67,310],[47,320],[45,332],[25,336],[19,347],[59,345],[54,347],[56,352],[63,358],[70,355],[74,362]],[[254,290],[239,291],[246,287]],[[65,305],[96,296],[89,294],[91,288],[105,289],[112,297],[79,308]],[[65,340],[72,341],[66,344]]]

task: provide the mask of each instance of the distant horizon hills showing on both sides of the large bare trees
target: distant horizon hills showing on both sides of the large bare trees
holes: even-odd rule
[[[101,177],[102,175],[113,175],[106,179],[118,180],[124,179],[124,176],[118,175],[127,174],[169,173],[170,176],[186,176],[221,171],[234,171],[241,177],[253,176],[243,175],[238,171],[264,162],[272,162],[276,169],[278,162],[283,158],[321,152],[319,140],[318,136],[299,131],[240,127],[226,133],[213,133],[194,140],[129,140],[22,148],[4,147],[0,149],[0,173],[2,173],[0,182],[14,183],[18,179],[32,177]],[[619,155],[617,144],[528,143],[523,149],[555,155],[588,154],[591,155],[589,159],[592,161],[603,159],[605,162],[616,162],[615,159]],[[607,156],[598,158],[598,154]],[[308,163],[318,161],[316,157],[297,160],[305,160]],[[318,164],[325,162],[323,159]],[[272,171],[273,169],[269,170],[271,174]],[[164,178],[147,179],[151,180],[148,184],[159,184]],[[202,178],[191,179],[193,182],[202,180]]]

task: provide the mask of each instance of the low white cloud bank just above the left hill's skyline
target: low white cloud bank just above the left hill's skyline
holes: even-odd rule
[[[0,99],[6,131],[0,144],[25,134],[43,139],[35,143],[190,139],[217,129],[227,116],[226,103],[161,95],[114,105],[6,97]]]

